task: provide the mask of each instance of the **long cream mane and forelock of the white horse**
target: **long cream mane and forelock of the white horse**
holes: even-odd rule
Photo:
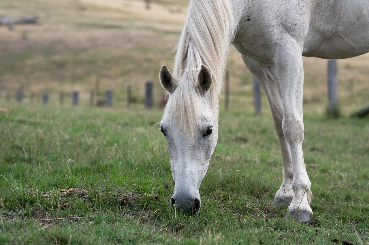
[[[202,120],[196,81],[202,64],[212,74],[209,92],[214,115],[218,118],[225,63],[234,33],[229,0],[190,1],[186,24],[175,49],[173,75],[178,82],[166,105],[166,111],[170,113],[167,116],[175,119],[183,132],[197,131]]]

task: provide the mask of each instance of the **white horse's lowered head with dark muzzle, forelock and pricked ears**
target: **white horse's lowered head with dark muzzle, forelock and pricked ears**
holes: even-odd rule
[[[194,214],[201,206],[199,188],[218,138],[218,116],[209,92],[211,72],[201,65],[199,70],[184,72],[176,79],[163,65],[160,82],[169,94],[160,129],[175,181],[170,205]]]

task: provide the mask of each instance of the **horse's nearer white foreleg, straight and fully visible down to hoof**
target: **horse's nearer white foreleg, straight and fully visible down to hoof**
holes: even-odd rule
[[[293,197],[285,218],[307,222],[313,215],[313,210],[309,205],[312,198],[311,182],[306,172],[302,151],[304,72],[301,47],[293,40],[286,40],[286,43],[276,49],[273,60],[280,81],[283,103],[282,130],[289,145],[293,164]]]

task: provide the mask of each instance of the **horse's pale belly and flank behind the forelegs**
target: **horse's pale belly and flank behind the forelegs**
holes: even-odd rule
[[[330,10],[327,12],[327,10]],[[341,59],[369,52],[369,2],[326,1],[311,16],[303,56]]]

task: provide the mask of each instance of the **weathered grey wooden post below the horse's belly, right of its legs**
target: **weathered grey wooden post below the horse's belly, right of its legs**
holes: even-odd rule
[[[328,60],[328,117],[339,117],[337,103],[337,60]]]

